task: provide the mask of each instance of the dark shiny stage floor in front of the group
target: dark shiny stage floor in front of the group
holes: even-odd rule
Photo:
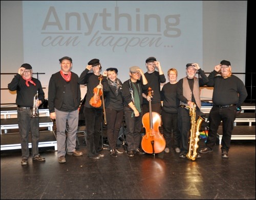
[[[255,199],[255,140],[232,140],[228,159],[220,147],[196,161],[174,149],[130,158],[123,146],[92,160],[80,141],[83,156],[60,164],[53,147],[40,147],[46,161],[25,166],[20,149],[1,151],[1,199]]]

